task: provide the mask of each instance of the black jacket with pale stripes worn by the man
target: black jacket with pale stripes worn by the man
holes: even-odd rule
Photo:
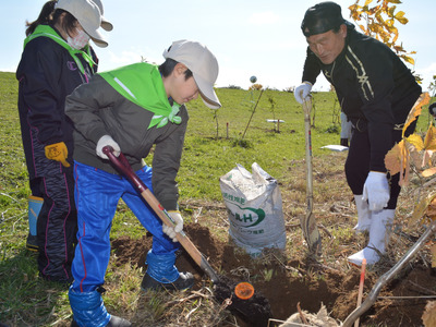
[[[371,170],[386,171],[384,157],[393,146],[391,131],[404,123],[421,86],[396,53],[351,24],[344,49],[334,63],[323,64],[307,48],[302,80],[314,84],[320,72],[335,86],[348,119],[367,130]]]

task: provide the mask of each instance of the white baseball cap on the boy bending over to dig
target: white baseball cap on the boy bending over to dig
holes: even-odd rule
[[[164,51],[164,58],[183,63],[192,72],[203,101],[210,109],[221,108],[214,84],[218,77],[218,61],[206,46],[197,41],[178,40]]]

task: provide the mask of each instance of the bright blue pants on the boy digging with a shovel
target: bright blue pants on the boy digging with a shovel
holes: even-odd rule
[[[144,167],[136,174],[153,192],[152,168]],[[173,254],[180,247],[162,232],[161,220],[125,178],[78,162],[74,175],[78,231],[72,266],[73,291],[90,292],[105,282],[110,257],[109,233],[120,198],[153,234],[155,255]],[[171,264],[169,269],[177,268]]]

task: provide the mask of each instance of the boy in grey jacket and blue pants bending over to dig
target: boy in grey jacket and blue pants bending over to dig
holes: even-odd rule
[[[211,109],[221,107],[214,90],[218,76],[215,56],[202,44],[174,41],[159,66],[141,62],[95,75],[66,99],[65,112],[74,122],[77,246],[70,304],[78,326],[129,326],[107,313],[100,295],[110,256],[110,227],[120,198],[153,234],[142,289],[182,290],[193,275],[179,272],[175,231],[183,229],[178,210],[175,177],[187,124],[185,102],[199,95]],[[122,152],[140,179],[177,222],[167,228],[131,183],[119,175],[102,153]],[[154,149],[152,168],[143,158]],[[117,322],[117,323],[116,323]]]

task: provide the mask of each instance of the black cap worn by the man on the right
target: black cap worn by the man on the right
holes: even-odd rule
[[[326,1],[307,9],[301,24],[301,29],[305,37],[310,37],[338,28],[341,24],[346,24],[346,22],[342,17],[340,5],[331,1]]]

